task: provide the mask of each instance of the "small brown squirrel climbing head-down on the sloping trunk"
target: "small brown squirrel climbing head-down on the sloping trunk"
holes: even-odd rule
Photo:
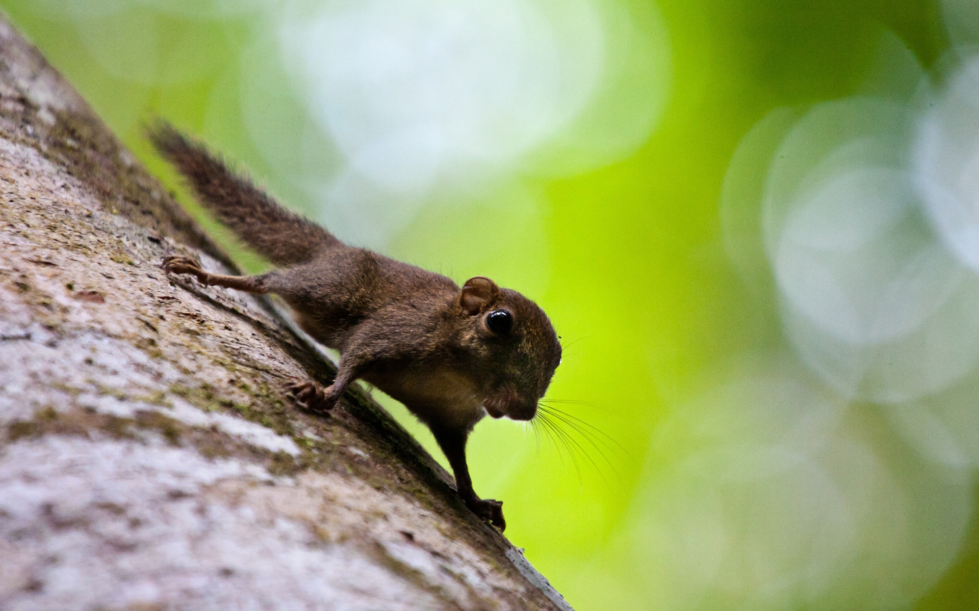
[[[442,275],[348,246],[164,121],[149,137],[223,225],[279,266],[260,276],[225,276],[187,257],[166,257],[163,269],[202,284],[282,297],[303,329],[341,355],[330,386],[288,386],[297,404],[330,410],[357,378],[380,388],[428,425],[452,466],[459,497],[503,530],[503,503],[473,490],[466,439],[487,414],[536,415],[561,362],[547,315],[488,278],[471,278],[459,288]]]

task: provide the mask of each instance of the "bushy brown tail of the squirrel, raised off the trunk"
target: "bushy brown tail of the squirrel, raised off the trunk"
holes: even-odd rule
[[[319,225],[283,208],[163,119],[155,121],[147,135],[217,220],[272,263],[303,263],[341,243]]]

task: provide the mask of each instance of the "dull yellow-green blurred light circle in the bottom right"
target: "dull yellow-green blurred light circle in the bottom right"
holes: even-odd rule
[[[777,363],[735,371],[661,428],[664,466],[629,536],[653,606],[909,606],[956,558],[970,478]]]

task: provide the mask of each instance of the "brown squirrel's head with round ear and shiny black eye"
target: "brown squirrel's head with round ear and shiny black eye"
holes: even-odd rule
[[[524,295],[482,276],[466,281],[455,305],[462,345],[487,413],[532,419],[561,363],[561,344],[550,319]]]

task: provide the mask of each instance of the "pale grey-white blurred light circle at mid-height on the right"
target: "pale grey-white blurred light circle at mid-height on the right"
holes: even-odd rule
[[[768,169],[761,223],[786,336],[855,399],[911,401],[979,362],[979,281],[930,223],[912,163],[915,109],[876,97],[818,104]]]

